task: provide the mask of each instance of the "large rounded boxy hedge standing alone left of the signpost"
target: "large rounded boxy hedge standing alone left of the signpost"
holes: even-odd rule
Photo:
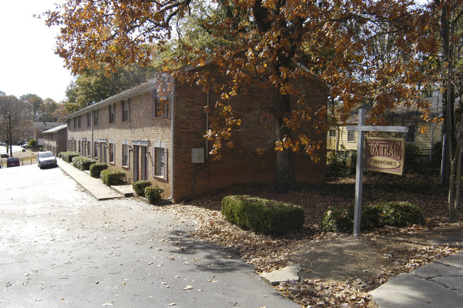
[[[222,199],[222,214],[230,222],[264,234],[284,234],[304,224],[304,210],[291,203],[249,195],[231,195]]]

